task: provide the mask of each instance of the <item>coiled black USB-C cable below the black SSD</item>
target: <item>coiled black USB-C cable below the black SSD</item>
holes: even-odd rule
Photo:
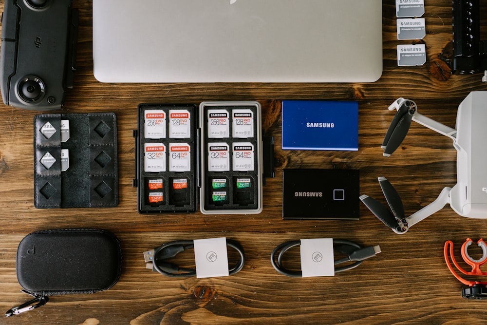
[[[289,270],[282,266],[282,256],[284,255],[284,253],[288,249],[300,245],[301,245],[300,240],[289,241],[289,242],[282,243],[272,251],[271,263],[272,266],[276,269],[276,271],[286,276],[291,276],[296,278],[302,277],[301,270]],[[346,240],[346,239],[333,239],[333,249],[334,251],[339,251],[340,253],[347,256],[335,261],[335,273],[356,268],[360,264],[362,264],[363,260],[374,257],[376,254],[380,253],[380,247],[378,245],[361,247],[356,242]],[[277,254],[277,261],[276,261],[276,254]],[[337,268],[337,265],[347,263],[347,262],[355,262],[355,263]]]

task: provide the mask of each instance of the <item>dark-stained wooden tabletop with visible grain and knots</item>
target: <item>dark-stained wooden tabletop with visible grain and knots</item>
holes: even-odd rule
[[[3,9],[4,1],[0,2]],[[393,117],[387,107],[397,97],[415,100],[420,113],[454,127],[463,98],[471,91],[487,90],[480,75],[450,76],[437,69],[438,63],[451,59],[451,0],[425,1],[428,60],[418,67],[397,66],[396,45],[411,42],[396,39],[394,1],[384,0],[383,75],[374,83],[343,84],[103,84],[93,76],[92,1],[74,2],[80,11],[77,71],[62,112],[117,115],[119,205],[34,208],[33,117],[39,112],[2,106],[0,309],[6,311],[29,300],[20,292],[15,257],[19,241],[32,231],[110,230],[123,248],[122,275],[110,290],[55,296],[34,311],[0,318],[0,324],[485,324],[487,302],[461,297],[464,286],[447,269],[443,245],[452,240],[458,252],[467,237],[486,236],[487,219],[460,217],[447,205],[406,234],[397,235],[363,205],[360,221],[281,218],[283,168],[358,169],[360,192],[378,199],[382,193],[377,176],[386,176],[401,195],[407,215],[431,203],[443,187],[455,184],[456,152],[445,136],[413,123],[391,157],[383,157],[380,149]],[[485,19],[483,25],[487,27]],[[359,150],[281,150],[281,99],[358,101]],[[263,128],[276,140],[276,177],[267,179],[262,213],[138,214],[136,189],[132,188],[137,105],[206,100],[262,103]],[[221,236],[238,240],[245,248],[245,266],[234,276],[173,279],[145,268],[142,252],[147,249],[171,240]],[[334,277],[280,275],[270,264],[272,249],[301,238],[350,239],[380,245],[382,252]]]

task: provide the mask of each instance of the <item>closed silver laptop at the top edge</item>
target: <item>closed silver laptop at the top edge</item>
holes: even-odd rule
[[[373,82],[382,0],[93,0],[102,82]]]

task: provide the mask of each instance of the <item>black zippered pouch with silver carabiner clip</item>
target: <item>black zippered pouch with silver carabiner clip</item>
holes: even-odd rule
[[[16,315],[44,305],[48,296],[107,290],[121,273],[120,244],[100,229],[57,229],[33,232],[17,250],[17,279],[35,299],[10,309]]]

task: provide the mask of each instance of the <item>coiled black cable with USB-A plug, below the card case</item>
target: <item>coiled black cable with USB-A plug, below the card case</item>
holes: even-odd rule
[[[244,267],[245,252],[239,242],[226,239],[226,245],[237,250],[240,254],[240,259],[233,266],[228,267],[228,275],[232,275],[240,271]],[[166,260],[175,257],[177,254],[186,249],[193,249],[194,244],[192,240],[176,240],[173,242],[162,244],[161,246],[150,249],[144,252],[144,260],[146,261],[146,268],[157,271],[162,275],[173,278],[196,276],[196,269],[194,268],[180,268],[178,265],[168,262]]]

